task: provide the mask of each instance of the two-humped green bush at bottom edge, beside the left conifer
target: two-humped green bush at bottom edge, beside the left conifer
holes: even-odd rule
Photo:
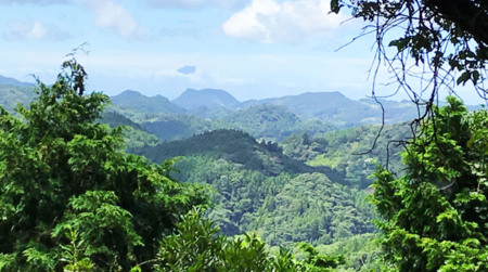
[[[178,233],[163,239],[160,271],[269,271],[270,256],[255,234],[227,239],[198,209],[177,224]]]

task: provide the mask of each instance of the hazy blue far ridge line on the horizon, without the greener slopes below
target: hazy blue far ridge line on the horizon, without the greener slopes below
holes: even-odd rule
[[[323,120],[339,128],[380,124],[382,118],[381,106],[373,100],[350,100],[341,92],[306,92],[240,102],[223,90],[188,89],[172,101],[163,100],[160,95],[147,98],[134,91],[125,91],[112,96],[112,100],[125,109],[159,114],[185,113],[209,119],[218,119],[254,106],[274,106],[274,108],[282,106],[304,120]],[[386,122],[398,122],[415,117],[416,109],[411,102],[382,101],[382,103],[386,111]]]

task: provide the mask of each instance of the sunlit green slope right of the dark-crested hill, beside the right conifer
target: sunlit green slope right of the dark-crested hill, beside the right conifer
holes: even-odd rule
[[[375,169],[374,163],[383,166],[388,163],[388,168],[396,173],[403,170],[398,154],[403,145],[398,141],[411,138],[408,124],[386,125],[374,145],[378,131],[380,126],[367,125],[313,137],[293,134],[284,139],[280,146],[285,155],[307,165],[328,166],[344,172],[344,184],[365,189],[372,182],[368,177]],[[388,144],[389,141],[394,142]]]

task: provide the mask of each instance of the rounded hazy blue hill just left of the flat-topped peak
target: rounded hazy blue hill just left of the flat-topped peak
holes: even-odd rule
[[[112,102],[123,109],[132,109],[144,113],[184,114],[184,108],[169,102],[162,95],[147,98],[140,92],[127,90],[111,98]]]

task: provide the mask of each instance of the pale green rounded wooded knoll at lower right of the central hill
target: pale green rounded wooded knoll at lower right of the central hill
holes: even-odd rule
[[[317,172],[277,177],[273,181],[279,182],[268,185],[262,205],[251,217],[254,220],[248,226],[270,245],[290,246],[300,241],[331,244],[375,231],[370,222],[374,212],[362,192],[333,183]]]

